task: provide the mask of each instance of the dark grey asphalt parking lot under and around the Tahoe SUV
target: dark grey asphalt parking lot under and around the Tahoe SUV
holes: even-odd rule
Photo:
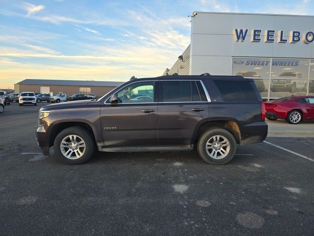
[[[313,137],[239,146],[224,166],[196,151],[68,166],[40,154],[43,105],[0,114],[0,235],[313,235]]]

